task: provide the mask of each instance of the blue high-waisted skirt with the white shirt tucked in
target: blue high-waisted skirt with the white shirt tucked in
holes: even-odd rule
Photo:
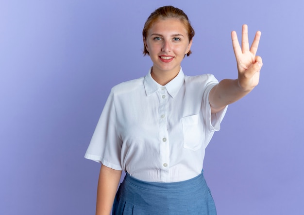
[[[189,180],[146,182],[128,173],[114,199],[113,215],[216,215],[203,172]]]

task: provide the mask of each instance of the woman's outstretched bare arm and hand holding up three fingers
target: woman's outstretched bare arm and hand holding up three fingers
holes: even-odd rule
[[[249,48],[248,27],[242,28],[242,47],[240,47],[236,32],[231,33],[233,50],[236,55],[238,78],[223,79],[214,86],[209,94],[209,103],[212,113],[217,113],[226,105],[236,102],[247,95],[259,83],[262,58],[255,56],[261,32],[256,32],[253,43]]]

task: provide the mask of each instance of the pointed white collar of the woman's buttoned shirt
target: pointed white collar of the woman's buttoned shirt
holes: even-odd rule
[[[145,76],[144,79],[144,86],[146,90],[147,96],[151,95],[152,93],[159,90],[162,85],[158,84],[151,76],[151,69],[149,70],[149,73]],[[166,90],[168,91],[169,95],[174,97],[177,92],[180,90],[182,85],[185,81],[185,74],[181,68],[180,72],[178,72],[177,76],[173,78],[168,84],[165,85]]]

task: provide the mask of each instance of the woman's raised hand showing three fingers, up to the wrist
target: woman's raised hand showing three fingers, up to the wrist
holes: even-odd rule
[[[238,42],[236,32],[231,33],[233,50],[236,56],[238,70],[238,85],[243,91],[251,91],[259,82],[262,58],[255,56],[261,32],[255,33],[253,43],[249,48],[248,26],[242,26],[242,47]]]

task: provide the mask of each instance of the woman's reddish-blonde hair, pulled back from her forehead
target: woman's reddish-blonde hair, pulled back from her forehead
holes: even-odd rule
[[[186,28],[186,32],[187,32],[187,36],[189,39],[189,42],[192,40],[193,36],[194,36],[194,29],[192,28],[190,21],[187,17],[187,15],[184,13],[184,11],[182,11],[181,9],[177,8],[177,7],[173,7],[173,6],[164,6],[164,7],[160,7],[158,9],[156,9],[154,12],[152,12],[152,14],[149,16],[149,18],[147,19],[145,25],[144,25],[144,29],[142,30],[142,37],[144,40],[144,51],[143,54],[149,55],[148,50],[146,49],[145,46],[145,39],[148,35],[148,31],[149,29],[152,27],[152,25],[158,21],[159,19],[166,19],[166,18],[177,18],[179,19],[185,26]],[[191,54],[191,50],[189,50],[189,52],[187,53],[187,56],[189,56]]]

